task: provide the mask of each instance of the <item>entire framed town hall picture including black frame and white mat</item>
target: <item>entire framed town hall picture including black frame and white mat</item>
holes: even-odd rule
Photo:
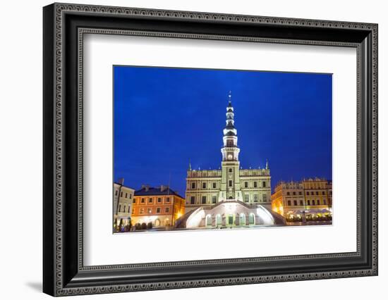
[[[377,275],[377,24],[43,20],[45,293]]]

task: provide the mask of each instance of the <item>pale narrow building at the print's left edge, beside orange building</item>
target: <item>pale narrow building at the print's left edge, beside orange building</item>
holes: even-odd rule
[[[124,180],[113,185],[114,228],[121,230],[131,223],[133,194],[135,189],[123,185]]]

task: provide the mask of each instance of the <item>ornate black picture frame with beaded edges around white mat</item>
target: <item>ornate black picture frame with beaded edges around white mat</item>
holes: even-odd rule
[[[377,275],[377,24],[73,4],[43,9],[43,291],[52,296]],[[357,251],[83,265],[83,35],[357,49]]]

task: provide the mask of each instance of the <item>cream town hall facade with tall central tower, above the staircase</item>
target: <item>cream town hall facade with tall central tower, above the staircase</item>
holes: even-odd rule
[[[268,162],[265,168],[242,169],[238,154],[234,108],[226,107],[226,126],[221,149],[219,170],[193,170],[189,164],[186,178],[186,211],[201,206],[215,206],[223,201],[241,201],[248,206],[271,206],[271,176]]]

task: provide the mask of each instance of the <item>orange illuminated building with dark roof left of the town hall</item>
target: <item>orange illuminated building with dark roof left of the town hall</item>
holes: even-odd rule
[[[135,191],[132,224],[152,223],[152,227],[170,227],[185,213],[185,199],[168,186],[143,185]]]

